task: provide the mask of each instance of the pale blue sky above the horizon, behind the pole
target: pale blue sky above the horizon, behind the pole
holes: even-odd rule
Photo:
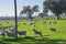
[[[0,16],[13,16],[14,15],[14,0],[0,0]],[[18,0],[18,14],[22,10],[23,6],[31,6],[34,4],[40,6],[40,10],[43,9],[43,1],[44,0]]]

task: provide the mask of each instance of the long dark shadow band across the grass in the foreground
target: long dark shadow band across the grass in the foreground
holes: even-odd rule
[[[26,37],[19,37],[18,40],[15,38],[4,38],[1,43],[2,44],[9,44],[10,42],[18,42],[20,44],[59,44],[61,43],[65,43],[66,44],[66,40],[51,40],[48,37],[42,37],[42,38],[34,38],[31,36],[26,36]],[[14,44],[14,43],[13,43]]]

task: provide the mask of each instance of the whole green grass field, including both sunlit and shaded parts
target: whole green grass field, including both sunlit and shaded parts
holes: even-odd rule
[[[44,20],[46,23],[42,24],[41,20],[35,22],[35,29],[41,31],[43,37],[37,34],[34,34],[33,26],[30,25],[28,20],[20,21],[18,23],[18,31],[26,31],[26,37],[23,35],[19,35],[19,38],[9,36],[0,36],[0,44],[66,44],[66,20]],[[51,21],[51,24],[48,24]],[[57,23],[54,24],[53,22]],[[24,25],[23,23],[26,23]],[[34,20],[33,20],[34,22]],[[2,26],[14,25],[13,21],[9,21],[9,23],[2,21],[0,22]],[[52,32],[50,28],[55,28],[56,32]],[[8,30],[8,29],[6,29]]]

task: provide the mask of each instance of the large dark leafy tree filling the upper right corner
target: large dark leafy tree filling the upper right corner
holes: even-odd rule
[[[43,4],[46,9],[51,10],[57,19],[61,18],[61,14],[66,11],[66,0],[45,0]]]

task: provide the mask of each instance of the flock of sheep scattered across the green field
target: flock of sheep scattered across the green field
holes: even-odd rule
[[[44,23],[46,23],[46,22],[44,22]],[[54,22],[54,23],[56,24],[56,22]],[[23,23],[23,24],[26,24],[26,23]],[[31,23],[30,25],[35,26],[35,23]],[[15,37],[15,30],[14,30],[15,28],[11,26],[9,29],[11,29],[11,30],[10,31],[0,30],[0,35],[3,35],[3,36],[8,35],[8,36]],[[53,32],[56,32],[56,29],[54,29],[54,28],[50,28],[50,30]],[[38,34],[40,36],[43,36],[42,32],[37,31],[35,28],[33,28],[33,32],[34,32],[34,34]],[[18,31],[18,34],[26,36],[26,31]]]

